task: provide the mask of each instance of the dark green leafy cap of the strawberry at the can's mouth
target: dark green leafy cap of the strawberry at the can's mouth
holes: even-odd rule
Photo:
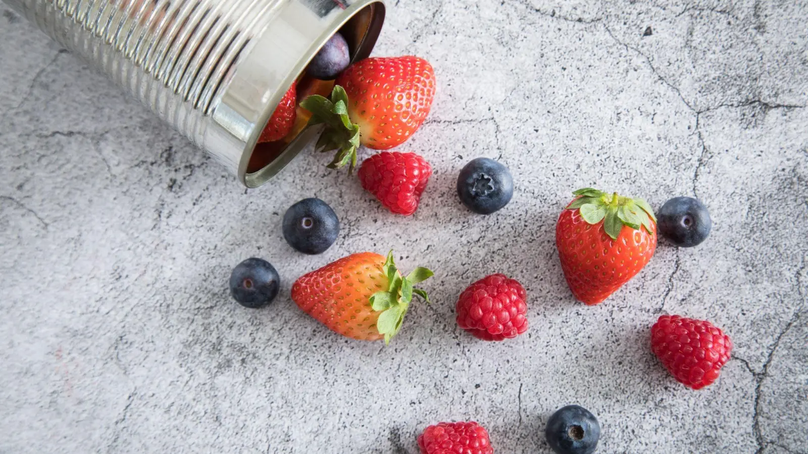
[[[315,149],[325,153],[339,150],[330,162],[330,169],[339,169],[348,165],[348,173],[356,167],[356,149],[360,146],[359,125],[348,117],[348,95],[339,85],[331,91],[331,99],[320,95],[311,95],[301,101],[301,107],[311,112],[309,126],[325,124]]]

